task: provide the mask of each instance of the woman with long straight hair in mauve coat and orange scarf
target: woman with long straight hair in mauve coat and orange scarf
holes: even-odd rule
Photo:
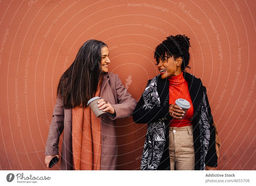
[[[61,170],[116,170],[116,119],[130,116],[137,102],[118,75],[108,72],[109,63],[107,44],[88,40],[61,76],[45,149],[47,168],[54,156],[60,158],[64,130]],[[97,96],[98,108],[106,112],[100,118],[87,106]]]

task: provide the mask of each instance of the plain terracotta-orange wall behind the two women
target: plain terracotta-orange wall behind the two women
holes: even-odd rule
[[[148,79],[159,74],[155,47],[168,35],[185,34],[188,72],[209,89],[215,111],[222,142],[218,169],[256,170],[255,1],[32,2],[0,2],[1,169],[45,169],[57,83],[85,41],[108,44],[110,72],[124,85],[131,75],[128,92],[139,100]],[[118,169],[138,170],[146,125],[128,118],[117,126]]]

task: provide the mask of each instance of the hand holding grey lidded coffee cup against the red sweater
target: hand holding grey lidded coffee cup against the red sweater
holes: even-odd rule
[[[170,115],[178,120],[182,120],[185,113],[190,108],[190,103],[186,99],[176,99],[175,104],[170,104],[169,113]]]

